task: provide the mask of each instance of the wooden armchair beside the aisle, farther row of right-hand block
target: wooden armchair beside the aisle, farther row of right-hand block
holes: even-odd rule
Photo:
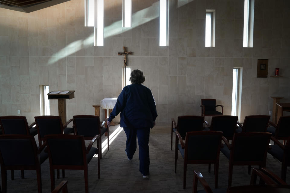
[[[177,125],[173,118],[171,118],[171,150],[172,150],[172,138],[174,131],[178,131],[182,138],[185,139],[185,134],[188,131],[202,131],[205,118],[202,116],[187,115],[178,116]],[[178,139],[176,138],[177,142]]]

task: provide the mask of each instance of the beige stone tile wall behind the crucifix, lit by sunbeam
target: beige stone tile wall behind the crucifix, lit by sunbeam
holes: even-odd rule
[[[243,0],[169,0],[169,46],[159,44],[159,1],[132,0],[132,28],[122,28],[122,0],[105,0],[104,46],[84,27],[84,0],[32,13],[0,8],[0,115],[40,115],[39,85],[76,90],[67,119],[94,114],[93,104],[122,90],[123,58],[143,70],[156,100],[157,122],[200,115],[202,98],[231,113],[233,67],[243,68],[241,121],[269,114],[272,99],[290,102],[290,3],[255,0],[253,48],[243,48]],[[215,47],[205,48],[205,10],[216,10]],[[268,78],[256,78],[257,59],[269,59]],[[271,78],[280,68],[282,78]],[[57,100],[50,101],[57,115]],[[101,119],[104,113],[101,111]]]

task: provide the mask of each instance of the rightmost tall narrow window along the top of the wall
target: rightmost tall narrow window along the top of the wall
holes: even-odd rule
[[[255,0],[245,0],[244,3],[244,34],[243,47],[253,47]]]

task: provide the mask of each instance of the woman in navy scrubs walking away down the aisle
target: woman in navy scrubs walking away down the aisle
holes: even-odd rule
[[[155,126],[157,117],[156,104],[152,92],[142,85],[145,81],[143,72],[135,69],[131,72],[131,85],[125,86],[118,96],[108,119],[110,122],[121,112],[120,126],[127,135],[126,154],[128,160],[133,158],[136,151],[136,137],[139,145],[139,170],[143,178],[149,178],[149,134],[150,128]]]

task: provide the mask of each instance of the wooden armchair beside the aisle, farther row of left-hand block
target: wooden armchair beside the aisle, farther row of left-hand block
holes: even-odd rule
[[[76,135],[82,135],[85,140],[92,140],[95,135],[100,135],[97,141],[98,149],[102,149],[102,136],[105,132],[108,132],[107,143],[109,150],[109,129],[107,126],[108,118],[100,125],[99,116],[95,115],[75,115],[73,116],[73,125],[76,131]],[[102,159],[102,150],[100,152],[100,159]]]

